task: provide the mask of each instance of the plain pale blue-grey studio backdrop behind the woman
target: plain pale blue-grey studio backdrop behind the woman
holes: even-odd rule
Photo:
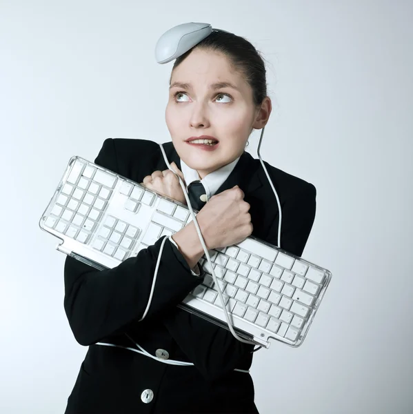
[[[154,47],[201,21],[263,53],[261,154],[316,186],[303,257],[333,273],[303,345],[254,355],[260,413],[411,413],[412,17],[408,0],[1,0],[0,412],[63,413],[87,348],[39,219],[73,155],[170,140]]]

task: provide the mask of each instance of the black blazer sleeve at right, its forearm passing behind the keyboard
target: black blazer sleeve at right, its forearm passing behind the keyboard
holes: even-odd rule
[[[308,184],[285,201],[281,223],[281,247],[301,256],[310,235],[316,208],[316,188]],[[278,217],[266,238],[277,244]],[[230,331],[187,311],[174,311],[164,324],[190,361],[207,380],[215,380],[234,368],[254,346],[236,339]]]

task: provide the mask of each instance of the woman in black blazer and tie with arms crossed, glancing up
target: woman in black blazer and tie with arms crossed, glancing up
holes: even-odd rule
[[[205,188],[208,202],[197,220],[208,249],[250,234],[277,244],[274,194],[259,160],[244,151],[252,130],[263,128],[270,113],[263,60],[245,39],[212,32],[175,61],[165,114],[172,142],[163,147],[187,186],[201,180]],[[217,144],[188,142],[203,135]],[[185,203],[177,177],[152,141],[107,139],[95,162]],[[281,246],[301,256],[316,190],[266,166],[283,212]],[[108,270],[67,257],[66,315],[77,341],[89,349],[66,414],[258,413],[252,378],[243,372],[251,366],[254,346],[177,308],[203,281],[197,265],[203,249],[193,223],[165,242],[152,302],[139,322],[165,237]],[[159,359],[121,348],[136,348],[134,343]]]

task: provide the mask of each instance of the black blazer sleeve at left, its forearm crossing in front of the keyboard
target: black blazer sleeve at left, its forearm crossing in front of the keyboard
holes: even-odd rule
[[[118,171],[114,141],[106,139],[94,161]],[[64,308],[70,328],[81,345],[90,345],[115,333],[123,333],[143,316],[148,305],[161,237],[119,266],[97,270],[67,256],[64,266]],[[203,276],[203,275],[201,275]],[[173,308],[198,286],[185,258],[169,240],[165,241],[152,302],[145,319]]]

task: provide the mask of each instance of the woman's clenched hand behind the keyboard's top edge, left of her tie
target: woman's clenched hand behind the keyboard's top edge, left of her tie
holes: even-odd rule
[[[181,170],[179,170],[177,164],[172,161],[170,165],[172,169],[177,172],[179,177],[181,177],[182,181],[185,182],[183,179],[183,173]],[[169,169],[152,172],[151,175],[147,175],[143,179],[143,182],[141,184],[150,190],[154,190],[157,193],[161,193],[166,197],[170,197],[186,205],[185,196],[183,195],[181,184],[179,184],[179,179]]]

